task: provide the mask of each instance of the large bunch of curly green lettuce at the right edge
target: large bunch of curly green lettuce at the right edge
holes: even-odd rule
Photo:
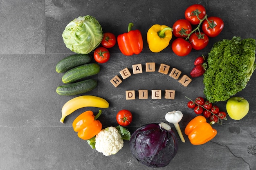
[[[256,68],[256,41],[252,38],[221,40],[208,53],[204,95],[209,102],[226,101],[242,91]]]

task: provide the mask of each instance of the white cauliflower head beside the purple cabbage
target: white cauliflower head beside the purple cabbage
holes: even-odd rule
[[[124,141],[117,128],[102,129],[95,138],[95,149],[105,156],[116,154],[124,146]]]

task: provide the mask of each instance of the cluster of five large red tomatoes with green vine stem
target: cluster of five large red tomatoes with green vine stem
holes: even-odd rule
[[[192,25],[197,27],[192,30]],[[173,24],[173,35],[177,39],[172,43],[172,50],[179,56],[188,55],[192,49],[202,50],[208,45],[209,37],[219,35],[223,27],[221,18],[207,17],[204,6],[193,4],[185,10],[185,19],[177,20]]]

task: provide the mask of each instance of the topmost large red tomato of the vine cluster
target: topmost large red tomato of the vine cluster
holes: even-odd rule
[[[200,20],[198,18],[203,19],[205,15],[206,10],[201,4],[193,4],[185,10],[185,19],[193,25],[199,24]]]

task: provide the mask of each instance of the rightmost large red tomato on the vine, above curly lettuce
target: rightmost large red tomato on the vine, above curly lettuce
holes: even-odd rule
[[[208,22],[209,21],[209,22]],[[224,22],[219,17],[208,17],[202,23],[202,30],[208,37],[216,37],[224,28]]]

